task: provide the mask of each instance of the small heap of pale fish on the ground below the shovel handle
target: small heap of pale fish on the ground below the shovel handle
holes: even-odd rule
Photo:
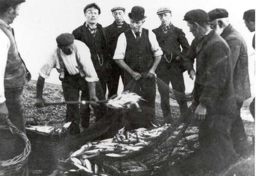
[[[67,128],[70,126],[70,124],[71,122],[67,122],[63,126],[29,125],[26,127],[26,130],[48,136],[52,133],[63,133],[64,131],[67,131]]]

